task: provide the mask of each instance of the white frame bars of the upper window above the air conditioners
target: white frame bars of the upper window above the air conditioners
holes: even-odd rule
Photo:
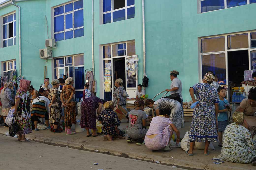
[[[77,0],[77,1],[79,1],[79,0]],[[74,10],[74,2],[77,2],[77,1],[67,2],[65,4],[61,4],[61,5],[53,7],[53,11],[54,11],[54,8],[58,8],[60,6],[63,6],[63,14],[54,15],[54,12],[53,12],[53,22],[52,22],[53,23],[53,32],[54,32],[54,18],[63,15],[63,17],[64,17],[64,23],[63,23],[64,24],[64,30],[63,31],[59,31],[59,32],[54,32],[54,35],[55,34],[59,34],[59,33],[64,33],[64,37],[63,37],[64,39],[63,40],[66,39],[65,33],[67,31],[72,31],[73,30],[73,38],[75,38],[75,30],[84,27],[84,26],[81,26],[81,27],[74,28],[74,12],[79,11],[79,10],[83,10],[83,7]],[[71,4],[71,3],[73,3],[73,10],[65,13],[65,5]],[[66,15],[68,15],[68,14],[72,14],[72,22],[73,22],[72,25],[73,25],[73,27],[66,29]],[[71,38],[69,38],[69,39],[71,39]]]

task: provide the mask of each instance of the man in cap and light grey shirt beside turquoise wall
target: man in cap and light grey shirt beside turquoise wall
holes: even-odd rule
[[[171,84],[171,88],[170,89],[166,89],[166,91],[170,92],[171,94],[174,93],[179,93],[180,99],[181,99],[181,106],[183,104],[183,100],[182,100],[182,82],[177,78],[177,75],[179,75],[179,72],[177,70],[173,70],[170,72],[170,78],[172,80],[172,84]],[[182,107],[182,112],[183,112],[183,107]]]

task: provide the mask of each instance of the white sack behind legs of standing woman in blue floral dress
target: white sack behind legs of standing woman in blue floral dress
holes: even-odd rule
[[[184,135],[184,138],[180,141],[180,147],[184,150],[187,151],[189,150],[189,134],[190,132],[187,131],[186,134]],[[194,149],[200,149],[200,150],[204,150],[205,149],[205,142],[195,142],[194,145]],[[210,143],[208,150],[214,150],[214,146],[212,144],[212,142]]]

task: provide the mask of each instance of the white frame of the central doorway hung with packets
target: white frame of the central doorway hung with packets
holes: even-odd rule
[[[122,42],[116,42],[116,43],[111,43],[111,44],[104,44],[104,45],[101,45],[100,46],[100,55],[101,55],[101,58],[102,58],[102,62],[101,62],[101,68],[100,68],[100,77],[102,77],[102,81],[101,83],[103,84],[103,86],[101,86],[101,91],[102,91],[102,94],[100,94],[101,97],[104,98],[104,91],[105,91],[105,87],[104,87],[104,61],[106,60],[110,60],[111,61],[111,92],[112,92],[112,96],[113,96],[113,93],[114,93],[114,59],[115,58],[125,58],[125,60],[127,58],[130,58],[130,57],[137,57],[137,55],[132,55],[132,56],[128,56],[127,55],[127,43],[130,43],[130,42],[135,42],[135,40],[131,40],[131,41],[122,41]],[[126,54],[124,56],[115,56],[113,57],[113,45],[117,45],[117,44],[125,44],[126,46],[126,49],[119,49],[118,51],[122,51],[122,50],[126,50]],[[110,58],[103,58],[103,46],[111,46],[111,57]],[[136,44],[135,44],[135,47],[136,47]],[[136,49],[135,49],[136,50]],[[127,72],[125,71],[125,85],[127,85]],[[100,83],[100,84],[101,84]],[[136,72],[136,89],[137,89],[137,85],[138,85],[138,72]],[[126,87],[126,91],[127,90],[132,90],[134,88],[127,88]],[[113,98],[112,98],[113,99]]]

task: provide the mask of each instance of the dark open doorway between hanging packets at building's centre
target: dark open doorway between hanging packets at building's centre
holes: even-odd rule
[[[123,80],[123,87],[126,89],[125,86],[125,57],[123,58],[115,58],[114,59],[114,82],[116,79]]]

